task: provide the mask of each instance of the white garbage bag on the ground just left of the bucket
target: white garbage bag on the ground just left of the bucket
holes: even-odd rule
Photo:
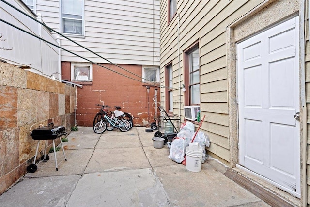
[[[188,146],[188,143],[185,139],[176,138],[171,142],[170,155],[168,156],[170,159],[175,161],[176,163],[181,163],[185,158],[185,148]]]

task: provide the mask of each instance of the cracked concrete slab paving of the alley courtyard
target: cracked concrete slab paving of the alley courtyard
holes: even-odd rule
[[[194,173],[153,147],[145,127],[95,134],[78,127],[62,150],[0,196],[0,207],[268,207],[216,160]],[[42,142],[42,141],[41,141]]]

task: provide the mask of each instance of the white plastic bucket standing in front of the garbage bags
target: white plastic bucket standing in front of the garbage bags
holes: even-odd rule
[[[199,150],[192,150],[191,146],[185,148],[186,154],[186,169],[192,172],[200,172],[202,170],[202,155],[203,150],[199,147]]]

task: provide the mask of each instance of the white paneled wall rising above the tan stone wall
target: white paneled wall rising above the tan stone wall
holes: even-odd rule
[[[8,2],[23,12],[32,15],[19,1],[12,0]],[[35,18],[34,15],[32,17]],[[0,18],[58,45],[49,30],[3,2],[0,2]],[[31,72],[45,76],[51,76],[53,73],[59,72],[59,50],[57,47],[47,44],[4,22],[0,22],[0,33],[2,34],[0,47],[13,48],[12,50],[1,49],[1,59],[15,65],[29,65]],[[55,77],[57,78],[58,75],[55,75]]]

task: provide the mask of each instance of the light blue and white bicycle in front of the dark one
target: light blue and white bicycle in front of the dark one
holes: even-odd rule
[[[122,111],[120,111],[120,112],[122,112]],[[107,123],[109,123],[110,126],[112,126],[113,128],[118,127],[120,129],[120,131],[129,131],[130,122],[128,120],[117,119],[118,114],[116,114],[116,117],[113,117],[113,116],[109,117],[109,114],[104,110],[103,110],[103,113],[104,113],[103,118],[100,119],[100,121],[97,122],[93,126],[93,130],[95,133],[102,134],[103,132],[105,132],[107,129]],[[105,121],[107,121],[107,123]]]

